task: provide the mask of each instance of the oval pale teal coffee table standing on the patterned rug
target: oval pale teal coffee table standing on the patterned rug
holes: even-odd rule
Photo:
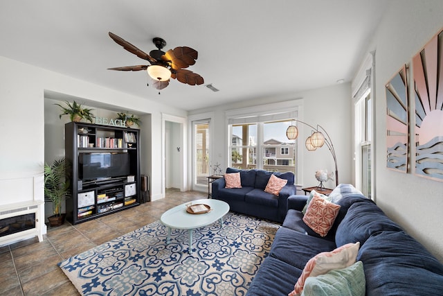
[[[186,211],[190,204],[206,204],[210,207],[210,211],[203,214],[190,214]],[[188,252],[189,254],[192,254],[192,230],[210,225],[217,220],[220,222],[220,227],[223,227],[223,216],[225,216],[228,211],[229,204],[221,200],[213,199],[193,200],[192,202],[186,202],[165,211],[165,213],[161,215],[160,220],[163,225],[168,227],[168,238],[166,239],[166,243],[170,243],[172,228],[188,229]]]

